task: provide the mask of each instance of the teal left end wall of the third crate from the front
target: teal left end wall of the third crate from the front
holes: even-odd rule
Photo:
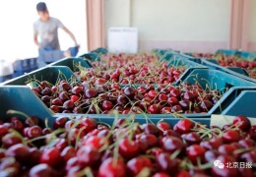
[[[49,66],[66,66],[69,67],[73,72],[79,71],[79,67],[93,67],[88,60],[85,60],[83,58],[64,58],[62,60],[49,64]]]

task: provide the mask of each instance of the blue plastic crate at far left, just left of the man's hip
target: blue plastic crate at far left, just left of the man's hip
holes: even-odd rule
[[[37,58],[27,58],[22,60],[16,60],[13,64],[14,71],[27,72],[38,68]]]

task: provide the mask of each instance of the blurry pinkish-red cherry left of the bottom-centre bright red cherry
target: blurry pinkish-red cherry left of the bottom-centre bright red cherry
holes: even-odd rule
[[[100,159],[100,153],[93,147],[82,147],[77,152],[78,162],[83,166],[95,166]]]

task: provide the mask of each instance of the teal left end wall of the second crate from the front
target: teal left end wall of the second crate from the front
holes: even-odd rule
[[[47,81],[55,84],[58,80],[76,80],[75,75],[68,67],[64,66],[48,66],[21,77],[7,81],[2,86],[25,86],[28,83],[36,83],[36,81]]]

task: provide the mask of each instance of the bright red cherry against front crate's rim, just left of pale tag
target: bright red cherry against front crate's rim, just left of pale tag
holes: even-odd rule
[[[191,129],[193,129],[194,126],[195,126],[195,123],[192,122],[191,120],[181,119],[175,124],[175,126],[173,127],[173,130],[180,134],[187,134],[191,132]]]

